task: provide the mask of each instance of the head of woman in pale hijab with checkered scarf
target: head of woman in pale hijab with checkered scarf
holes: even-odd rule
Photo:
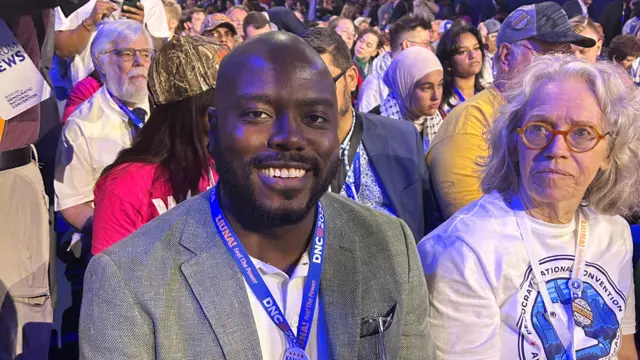
[[[383,80],[389,95],[380,104],[380,115],[412,122],[426,152],[444,119],[440,61],[431,51],[414,46],[393,59]]]

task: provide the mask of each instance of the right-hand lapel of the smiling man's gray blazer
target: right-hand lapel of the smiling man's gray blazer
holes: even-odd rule
[[[355,359],[360,337],[360,267],[356,240],[349,236],[346,214],[322,198],[327,209],[326,253],[320,283],[324,311],[327,359]],[[322,324],[318,324],[320,326]]]

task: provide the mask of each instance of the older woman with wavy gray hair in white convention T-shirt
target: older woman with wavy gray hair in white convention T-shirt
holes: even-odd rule
[[[608,63],[533,61],[506,93],[485,195],[418,245],[439,359],[637,359],[640,95]]]

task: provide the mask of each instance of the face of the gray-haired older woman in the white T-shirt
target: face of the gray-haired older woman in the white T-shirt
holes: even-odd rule
[[[573,128],[575,141],[594,144],[594,130],[602,135],[607,132],[597,104],[593,92],[581,79],[547,81],[532,93],[522,126],[531,124],[525,133],[534,141],[540,137],[544,143],[551,131]],[[532,150],[519,136],[521,194],[526,194],[534,204],[580,201],[598,170],[609,166],[608,141],[606,137],[592,150],[575,152],[562,135],[556,135],[546,147]]]

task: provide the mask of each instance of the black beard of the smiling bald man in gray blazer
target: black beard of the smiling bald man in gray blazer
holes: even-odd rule
[[[222,154],[219,147],[220,140],[217,132],[214,132],[214,144],[211,146],[211,155],[215,163],[219,176],[219,184],[228,199],[234,203],[235,216],[242,214],[242,219],[236,219],[243,223],[243,226],[252,228],[272,228],[297,224],[302,221],[311,211],[314,211],[320,198],[327,192],[331,180],[335,177],[340,165],[338,152],[335,158],[328,164],[328,171],[320,178],[319,160],[303,156],[299,152],[280,152],[271,155],[256,155],[246,161],[242,167],[237,167]],[[317,179],[311,189],[309,200],[301,209],[290,209],[286,207],[267,208],[263,206],[259,199],[257,189],[251,182],[252,171],[255,172],[262,163],[283,161],[307,164],[311,167],[313,176]],[[293,200],[296,194],[285,192],[283,197]]]

